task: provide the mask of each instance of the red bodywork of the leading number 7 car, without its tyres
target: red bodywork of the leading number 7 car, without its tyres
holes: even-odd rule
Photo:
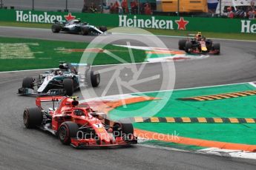
[[[71,145],[75,147],[79,146],[120,146],[137,143],[137,137],[134,135],[128,140],[123,140],[122,137],[114,137],[113,128],[105,128],[104,118],[100,117],[100,114],[93,115],[93,110],[90,106],[79,107],[79,102],[73,98],[54,96],[54,97],[42,97],[36,98],[36,106],[41,106],[41,102],[47,101],[59,101],[59,107],[50,111],[49,114],[52,117],[52,130],[58,131],[59,126],[65,121],[72,121],[77,123],[80,127],[90,126],[94,129],[98,139],[95,138],[71,138]],[[74,111],[81,111],[82,115],[76,115]]]

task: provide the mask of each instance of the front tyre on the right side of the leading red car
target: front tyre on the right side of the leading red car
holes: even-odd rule
[[[114,123],[114,137],[123,137],[125,140],[131,140],[134,135],[134,126],[131,123]]]

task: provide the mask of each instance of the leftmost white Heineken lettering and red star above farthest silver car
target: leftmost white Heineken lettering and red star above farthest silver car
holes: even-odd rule
[[[38,13],[32,13],[31,11],[26,13],[22,10],[16,10],[16,21],[20,21],[20,22],[53,23],[55,20],[69,21],[74,18],[76,18],[76,16],[72,16],[72,13],[68,13],[68,16],[63,17],[58,15],[50,15],[47,12],[38,14]]]

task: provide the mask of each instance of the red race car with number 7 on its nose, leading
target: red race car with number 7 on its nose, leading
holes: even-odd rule
[[[53,102],[53,108],[42,109],[42,102]],[[58,104],[55,108],[56,103]],[[27,129],[39,128],[59,137],[65,145],[76,148],[88,146],[128,146],[137,143],[131,123],[104,123],[106,115],[94,112],[88,105],[79,105],[74,97],[36,98],[36,107],[23,114]]]

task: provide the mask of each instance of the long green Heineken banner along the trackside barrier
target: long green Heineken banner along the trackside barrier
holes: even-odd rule
[[[230,18],[141,16],[101,13],[60,13],[29,10],[0,10],[0,21],[53,23],[80,18],[89,24],[107,27],[140,27],[164,30],[189,30],[218,33],[256,33],[256,21]]]

